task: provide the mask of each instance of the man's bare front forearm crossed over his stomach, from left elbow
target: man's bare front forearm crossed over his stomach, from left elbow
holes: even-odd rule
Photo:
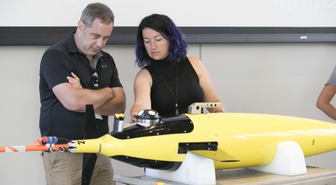
[[[71,83],[60,83],[52,88],[58,100],[70,111],[85,112],[86,104],[92,104],[94,109],[111,100],[113,90],[103,88],[99,90],[73,88]]]

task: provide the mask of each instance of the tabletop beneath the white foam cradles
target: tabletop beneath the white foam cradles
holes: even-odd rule
[[[167,181],[165,179],[158,179],[146,175],[138,177],[126,177],[121,175],[114,175],[113,180],[123,184],[137,184],[137,185],[155,185],[158,182],[165,183],[165,185],[174,184],[181,185],[181,183],[174,181]],[[270,174],[249,170],[246,168],[232,169],[232,170],[216,170],[216,185],[221,184],[330,184],[336,185],[336,170],[329,170],[318,167],[308,167],[307,174],[300,174],[293,177],[283,176],[279,174]]]

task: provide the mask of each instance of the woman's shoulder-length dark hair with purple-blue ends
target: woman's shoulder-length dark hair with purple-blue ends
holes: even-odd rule
[[[139,67],[144,67],[146,64],[151,66],[151,57],[146,52],[144,36],[142,36],[145,28],[151,28],[169,40],[169,60],[179,62],[186,57],[188,46],[180,29],[167,15],[152,14],[141,20],[137,32],[135,64]]]

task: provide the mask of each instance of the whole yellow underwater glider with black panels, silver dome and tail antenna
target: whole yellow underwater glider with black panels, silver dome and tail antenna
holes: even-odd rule
[[[209,107],[211,103],[195,103],[188,114],[172,118],[144,110],[137,116],[138,124],[122,132],[62,146],[55,143],[43,150],[102,153],[138,167],[174,171],[187,151],[211,158],[216,170],[224,170],[271,163],[279,142],[297,142],[304,157],[336,149],[335,123],[267,114],[200,114],[204,104]],[[0,152],[24,151],[16,147],[3,146]]]

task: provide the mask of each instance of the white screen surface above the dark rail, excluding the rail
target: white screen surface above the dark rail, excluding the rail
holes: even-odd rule
[[[76,27],[90,0],[1,0],[0,27]],[[336,0],[101,0],[116,27],[152,13],[179,27],[336,27]]]

